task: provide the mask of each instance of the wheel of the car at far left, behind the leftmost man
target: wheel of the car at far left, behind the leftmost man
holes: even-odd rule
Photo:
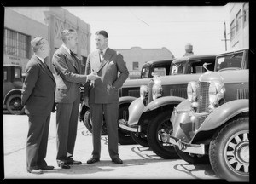
[[[21,105],[21,95],[19,94],[10,95],[6,101],[6,106],[11,114],[20,115],[25,112],[24,106]]]

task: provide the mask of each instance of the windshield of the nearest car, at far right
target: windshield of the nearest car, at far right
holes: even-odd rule
[[[241,68],[243,53],[236,53],[224,56],[217,56],[216,71],[224,70],[225,68]]]

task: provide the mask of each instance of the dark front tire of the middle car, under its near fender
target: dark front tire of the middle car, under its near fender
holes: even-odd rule
[[[165,159],[179,158],[172,144],[162,142],[160,135],[158,135],[158,131],[161,129],[165,129],[166,132],[172,131],[171,114],[171,111],[161,112],[148,124],[147,131],[149,147],[154,153]]]

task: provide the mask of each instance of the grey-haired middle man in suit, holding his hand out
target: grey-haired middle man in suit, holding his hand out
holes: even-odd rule
[[[81,74],[81,61],[73,54],[78,45],[78,34],[73,29],[61,32],[63,44],[55,51],[52,63],[55,69],[57,163],[62,169],[70,164],[82,164],[73,160],[73,150],[77,136],[80,103],[80,84],[95,80],[96,73]]]

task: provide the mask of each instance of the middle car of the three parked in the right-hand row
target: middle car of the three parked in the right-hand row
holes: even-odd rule
[[[148,142],[148,128],[154,127],[156,130],[171,124],[169,119],[172,109],[187,98],[187,83],[206,72],[203,65],[213,70],[215,57],[216,55],[191,55],[173,60],[170,76],[154,77],[148,86],[141,86],[141,97],[132,101],[129,106],[128,121],[119,119],[120,129],[130,131],[131,137],[138,144],[148,147],[151,144]],[[157,132],[154,134],[156,137],[151,139],[154,140],[152,144],[159,147],[155,153],[163,158],[170,158],[169,147],[158,141]],[[173,152],[176,153],[174,150]]]

